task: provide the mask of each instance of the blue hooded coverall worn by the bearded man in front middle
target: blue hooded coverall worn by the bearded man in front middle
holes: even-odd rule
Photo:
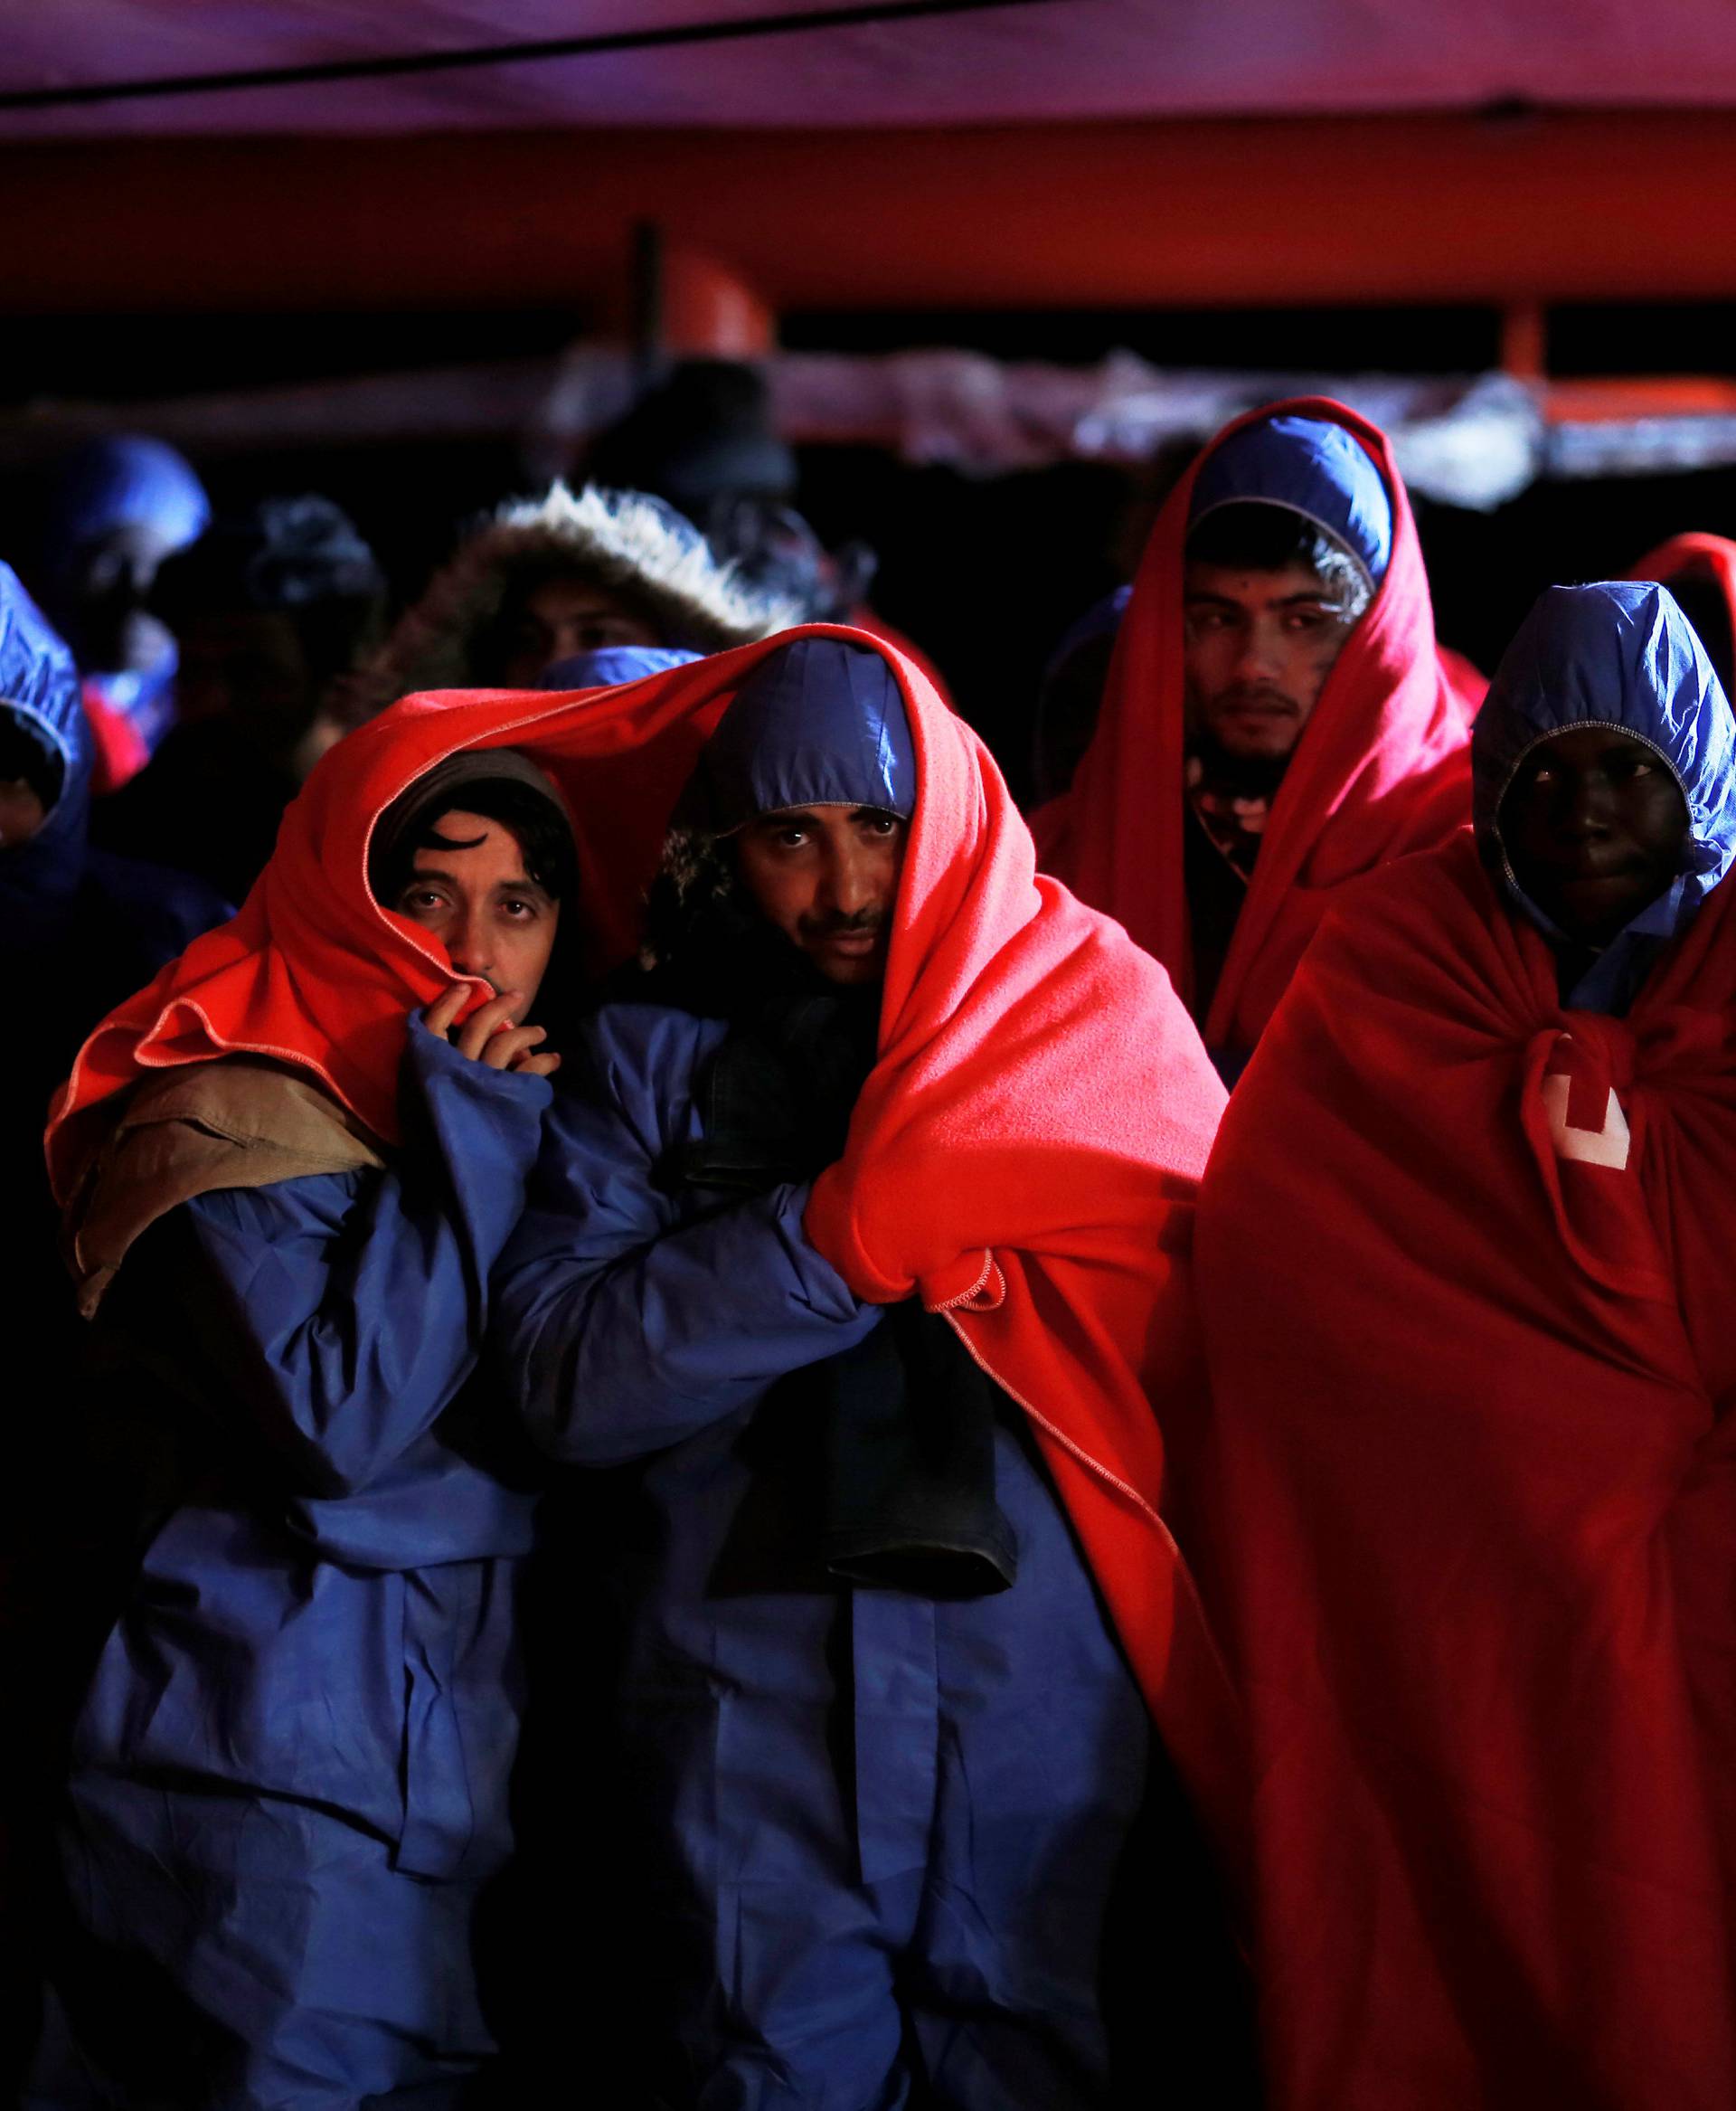
[[[918,798],[884,659],[799,640],[742,684],[679,813],[724,836]],[[751,944],[715,963],[726,984],[749,982]],[[1099,1942],[1147,1792],[1145,1708],[1010,1410],[991,1446],[1012,1587],[869,1587],[816,1556],[802,1374],[888,1319],[808,1241],[799,1163],[742,1193],[705,1161],[736,1024],[595,1015],[500,1271],[498,1366],[538,1446],[595,1482],[565,1539],[612,1659],[586,1737],[614,1790],[572,1877],[599,1881],[622,1843],[614,1896],[650,1921],[656,1982],[639,2039],[654,2092],[662,2062],[681,2077],[669,2100],[892,2103],[920,2041],[960,2111],[1008,2100],[998,2060],[1021,2100],[1084,2111],[1105,2100]]]

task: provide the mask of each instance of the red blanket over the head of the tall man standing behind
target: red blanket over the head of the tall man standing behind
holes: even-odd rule
[[[1124,923],[1192,1001],[1181,553],[1202,462],[1234,433],[1276,416],[1331,420],[1367,448],[1392,500],[1392,557],[1327,676],[1272,804],[1236,935],[1200,1022],[1211,1049],[1255,1045],[1346,880],[1445,842],[1470,813],[1468,709],[1436,657],[1422,547],[1392,450],[1367,418],[1306,397],[1268,403],[1226,426],[1169,494],[1133,583],[1097,735],[1072,792],[1034,819],[1042,866]]]

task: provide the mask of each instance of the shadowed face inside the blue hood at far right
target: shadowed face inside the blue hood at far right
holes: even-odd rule
[[[1531,749],[1500,828],[1512,876],[1544,916],[1603,946],[1675,880],[1687,804],[1656,749],[1576,726]]]

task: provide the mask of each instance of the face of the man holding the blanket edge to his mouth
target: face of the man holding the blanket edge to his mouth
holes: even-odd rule
[[[561,904],[529,878],[500,821],[454,806],[432,834],[441,840],[418,849],[409,882],[384,906],[432,931],[460,975],[515,990],[523,1018],[548,971]]]

